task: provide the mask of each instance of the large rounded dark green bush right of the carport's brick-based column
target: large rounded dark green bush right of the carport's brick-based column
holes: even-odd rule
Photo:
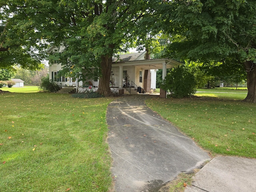
[[[161,88],[170,92],[171,97],[183,98],[196,93],[194,75],[185,66],[178,66],[166,75]]]

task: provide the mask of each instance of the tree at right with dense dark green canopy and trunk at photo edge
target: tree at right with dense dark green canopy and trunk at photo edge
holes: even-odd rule
[[[163,28],[170,35],[166,55],[220,62],[218,68],[230,73],[246,70],[245,100],[256,102],[256,1],[174,0],[164,8]]]

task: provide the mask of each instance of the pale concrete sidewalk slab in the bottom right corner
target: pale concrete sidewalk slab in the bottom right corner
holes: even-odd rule
[[[219,156],[193,179],[185,192],[256,192],[256,159]]]

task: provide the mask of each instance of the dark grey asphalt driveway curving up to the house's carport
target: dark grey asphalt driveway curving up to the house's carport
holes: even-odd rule
[[[151,95],[122,96],[107,110],[116,192],[158,191],[180,172],[210,160],[187,136],[144,103]]]

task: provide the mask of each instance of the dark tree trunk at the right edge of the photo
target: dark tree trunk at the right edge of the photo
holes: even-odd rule
[[[244,101],[256,103],[256,66],[251,61],[244,63],[247,70],[247,89],[248,94]]]

